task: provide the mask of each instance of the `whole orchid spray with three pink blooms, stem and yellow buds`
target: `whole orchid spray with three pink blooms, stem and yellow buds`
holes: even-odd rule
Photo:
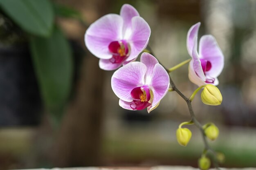
[[[213,123],[202,126],[196,119],[191,102],[194,96],[202,90],[201,99],[204,104],[220,105],[222,95],[216,85],[218,75],[224,67],[224,55],[212,35],[204,35],[199,42],[198,30],[200,22],[191,26],[187,34],[188,59],[172,68],[166,68],[159,63],[148,46],[150,27],[139,16],[138,11],[129,4],[121,7],[120,15],[108,14],[92,23],[85,33],[85,46],[100,58],[99,67],[103,70],[117,71],[112,75],[111,86],[119,97],[119,106],[128,110],[143,110],[148,113],[157,108],[161,99],[168,91],[177,92],[186,102],[191,121],[185,121],[177,129],[177,141],[186,146],[192,136],[184,125],[195,124],[202,133],[204,151],[198,161],[202,170],[210,167],[211,161],[207,152],[213,153],[213,163],[218,168],[218,154],[209,146],[207,138],[215,140],[219,130]],[[140,62],[135,60],[142,51]],[[189,63],[189,79],[199,87],[188,98],[174,84],[169,73]]]

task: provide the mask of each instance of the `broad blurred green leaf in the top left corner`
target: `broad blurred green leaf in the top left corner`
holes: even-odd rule
[[[52,2],[49,0],[0,0],[1,8],[24,31],[49,36],[54,22]]]

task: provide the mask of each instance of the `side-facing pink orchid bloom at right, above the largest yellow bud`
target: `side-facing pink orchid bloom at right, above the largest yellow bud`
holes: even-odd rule
[[[191,26],[187,35],[187,49],[192,57],[189,63],[189,79],[198,86],[219,84],[218,76],[224,67],[224,55],[212,35],[200,38],[199,53],[197,49],[200,22]]]

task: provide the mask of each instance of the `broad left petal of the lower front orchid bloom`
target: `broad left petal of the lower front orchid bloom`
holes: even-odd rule
[[[133,98],[130,93],[133,88],[144,85],[146,70],[145,64],[132,62],[115,71],[111,78],[115,95],[126,102],[131,102]]]

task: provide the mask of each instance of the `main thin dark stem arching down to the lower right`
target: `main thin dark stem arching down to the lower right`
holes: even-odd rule
[[[149,46],[148,46],[148,50],[150,50],[150,53],[151,53],[153,56],[155,56]],[[155,58],[157,58],[157,57],[155,56]],[[159,64],[161,64],[161,63],[159,62]],[[167,71],[167,73],[169,73],[169,70],[168,70],[163,64],[161,64],[161,65],[165,68],[165,70]],[[182,97],[182,99],[185,100],[185,102],[186,102],[186,104],[187,104],[187,106],[188,106],[188,108],[189,108],[189,113],[190,113],[190,116],[191,116],[191,121],[195,124],[196,127],[198,127],[198,129],[199,129],[200,132],[201,132],[201,135],[202,135],[202,138],[203,138],[203,142],[204,142],[204,154],[206,154],[208,151],[213,153],[213,156],[214,156],[214,157],[213,157],[213,160],[212,160],[212,161],[213,161],[213,164],[214,164],[215,168],[219,170],[220,168],[219,168],[219,165],[218,165],[218,161],[217,161],[217,159],[216,159],[216,152],[215,152],[213,149],[211,149],[211,147],[209,146],[209,143],[208,143],[208,141],[207,141],[207,137],[206,137],[206,135],[205,135],[205,133],[204,133],[204,129],[203,129],[202,125],[200,124],[200,122],[199,122],[199,121],[196,119],[196,117],[195,117],[195,114],[194,114],[194,111],[193,111],[193,108],[192,108],[192,104],[191,104],[191,100],[190,100],[188,97],[186,97],[186,96],[176,87],[176,85],[175,85],[175,83],[173,82],[173,79],[171,78],[170,75],[169,75],[169,77],[170,77],[171,88],[173,89],[173,91],[175,91],[176,93],[178,93],[178,95],[180,95],[180,97]],[[202,88],[202,87],[201,87],[201,88]],[[199,89],[199,90],[200,90],[200,89]],[[198,90],[198,91],[199,91],[199,90]]]

